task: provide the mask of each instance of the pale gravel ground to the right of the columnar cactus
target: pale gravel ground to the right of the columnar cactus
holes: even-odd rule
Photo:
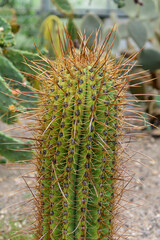
[[[147,137],[145,142],[134,143],[131,150],[139,152],[132,161],[136,185],[129,201],[136,203],[128,211],[127,225],[130,237],[126,239],[160,239],[160,139]]]

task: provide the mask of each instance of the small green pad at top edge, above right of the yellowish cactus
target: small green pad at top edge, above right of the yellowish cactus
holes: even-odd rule
[[[52,3],[58,8],[58,10],[64,14],[72,15],[73,9],[68,0],[51,0]]]

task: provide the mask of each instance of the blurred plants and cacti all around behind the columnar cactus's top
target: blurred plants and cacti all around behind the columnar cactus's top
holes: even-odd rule
[[[36,107],[36,93],[32,86],[38,83],[31,76],[34,69],[28,67],[31,61],[41,61],[40,52],[51,59],[60,55],[59,35],[63,35],[63,26],[78,49],[79,34],[86,31],[92,34],[88,47],[93,44],[96,31],[104,40],[106,34],[113,31],[110,44],[114,39],[112,56],[126,57],[138,52],[137,66],[132,71],[140,75],[130,92],[137,94],[143,103],[144,118],[159,126],[160,119],[160,0],[0,0],[0,118],[2,122],[13,124],[18,121],[21,111],[30,111]],[[148,70],[144,72],[143,70]],[[154,81],[144,83],[144,78]],[[135,81],[135,79],[133,79]],[[132,82],[131,82],[132,83]],[[143,94],[141,97],[138,94]],[[23,101],[22,101],[23,100]],[[153,100],[150,103],[148,100]],[[155,100],[157,102],[155,102]],[[156,118],[155,118],[156,117]],[[154,133],[159,136],[159,132]],[[0,133],[0,154],[11,161],[31,158],[31,153],[19,152],[28,148],[30,142],[24,142]],[[8,145],[8,142],[12,142]],[[16,150],[16,154],[15,154]],[[6,160],[2,158],[2,162]]]

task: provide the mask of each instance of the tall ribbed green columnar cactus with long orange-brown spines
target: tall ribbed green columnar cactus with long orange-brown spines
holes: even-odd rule
[[[37,76],[35,239],[119,239],[131,59],[111,59],[110,35],[90,49],[83,37],[77,51],[66,33],[68,54],[61,43],[63,57],[43,58],[48,69]]]

